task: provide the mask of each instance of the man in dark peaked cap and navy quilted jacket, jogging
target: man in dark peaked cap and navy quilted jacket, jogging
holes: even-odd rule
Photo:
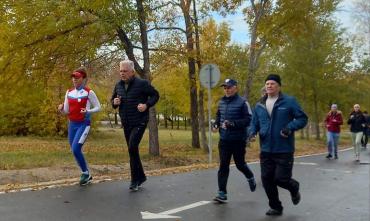
[[[218,195],[215,201],[224,203],[227,200],[226,185],[229,177],[231,157],[234,157],[236,167],[247,178],[252,192],[256,190],[254,175],[245,162],[245,146],[247,127],[251,121],[251,113],[244,98],[238,95],[237,82],[226,79],[221,85],[224,88],[223,96],[218,104],[216,121],[213,132],[220,132],[218,144],[220,168],[218,170]]]

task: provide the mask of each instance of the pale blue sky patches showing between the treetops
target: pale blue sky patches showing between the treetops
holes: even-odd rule
[[[339,21],[340,26],[346,28],[349,33],[355,32],[354,18],[351,11],[354,9],[354,0],[343,0],[338,5],[338,10],[334,14],[334,17]],[[243,14],[238,11],[234,15],[228,15],[222,17],[218,14],[214,14],[213,18],[218,22],[225,21],[230,24],[232,29],[231,41],[234,43],[248,44],[249,43],[249,30],[248,25],[244,21]]]

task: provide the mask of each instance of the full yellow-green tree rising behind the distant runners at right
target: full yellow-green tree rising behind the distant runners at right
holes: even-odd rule
[[[284,88],[303,102],[316,139],[320,139],[322,113],[328,102],[338,98],[334,88],[349,70],[351,49],[330,17],[337,2],[302,1],[296,12],[289,9],[293,4],[285,1],[278,9],[283,16],[280,19],[294,17],[297,22],[282,27],[284,44],[276,47],[275,55],[284,82],[288,82]]]

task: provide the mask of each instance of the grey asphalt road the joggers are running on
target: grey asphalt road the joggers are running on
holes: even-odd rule
[[[257,191],[251,193],[244,177],[232,167],[227,204],[211,202],[217,190],[217,170],[210,169],[149,177],[135,193],[128,191],[129,183],[114,181],[2,194],[0,221],[136,221],[143,220],[141,212],[145,211],[149,213],[143,213],[144,218],[181,217],[168,220],[368,221],[370,150],[362,152],[361,164],[353,161],[352,151],[341,152],[339,160],[326,160],[324,155],[297,158],[294,178],[301,183],[302,201],[293,206],[289,193],[279,189],[284,215],[275,219],[264,215],[268,204],[260,167],[252,164]]]

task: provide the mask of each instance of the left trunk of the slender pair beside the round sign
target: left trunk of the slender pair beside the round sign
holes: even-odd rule
[[[199,142],[199,121],[198,121],[198,93],[197,93],[197,80],[195,75],[195,59],[194,59],[194,39],[193,39],[193,26],[190,16],[191,0],[181,0],[181,10],[184,15],[186,26],[186,48],[188,56],[189,67],[189,93],[190,93],[190,117],[191,117],[191,132],[192,132],[192,146],[200,148]]]

